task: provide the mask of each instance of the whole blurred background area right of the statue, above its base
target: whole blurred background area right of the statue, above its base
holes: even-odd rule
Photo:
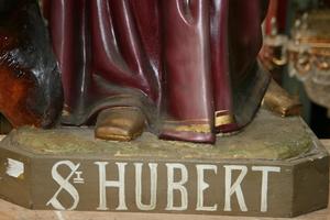
[[[299,98],[301,117],[330,138],[330,0],[271,0],[260,59]]]

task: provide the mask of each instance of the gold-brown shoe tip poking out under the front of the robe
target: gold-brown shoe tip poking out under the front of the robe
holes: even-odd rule
[[[142,134],[145,121],[145,116],[139,108],[105,109],[98,116],[95,136],[111,141],[131,141]]]

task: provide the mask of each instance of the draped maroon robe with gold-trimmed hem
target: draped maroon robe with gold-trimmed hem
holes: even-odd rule
[[[248,124],[268,82],[263,0],[44,0],[67,117],[141,108],[161,138],[212,143]]]

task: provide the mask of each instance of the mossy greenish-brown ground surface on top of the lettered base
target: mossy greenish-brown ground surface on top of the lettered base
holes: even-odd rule
[[[94,154],[163,158],[262,158],[288,160],[302,156],[312,144],[310,132],[300,118],[279,118],[262,110],[242,132],[218,136],[216,145],[158,140],[145,132],[133,142],[110,142],[94,139],[92,129],[63,128],[37,130],[24,128],[12,132],[6,142],[35,154]]]

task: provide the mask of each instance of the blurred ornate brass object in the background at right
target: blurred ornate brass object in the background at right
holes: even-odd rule
[[[263,51],[268,52],[261,55],[263,64],[272,70],[287,62],[289,76],[299,79],[308,97],[330,112],[330,10],[304,13],[290,34],[288,41],[276,31],[265,37]],[[276,46],[282,48],[279,56],[274,53]]]

